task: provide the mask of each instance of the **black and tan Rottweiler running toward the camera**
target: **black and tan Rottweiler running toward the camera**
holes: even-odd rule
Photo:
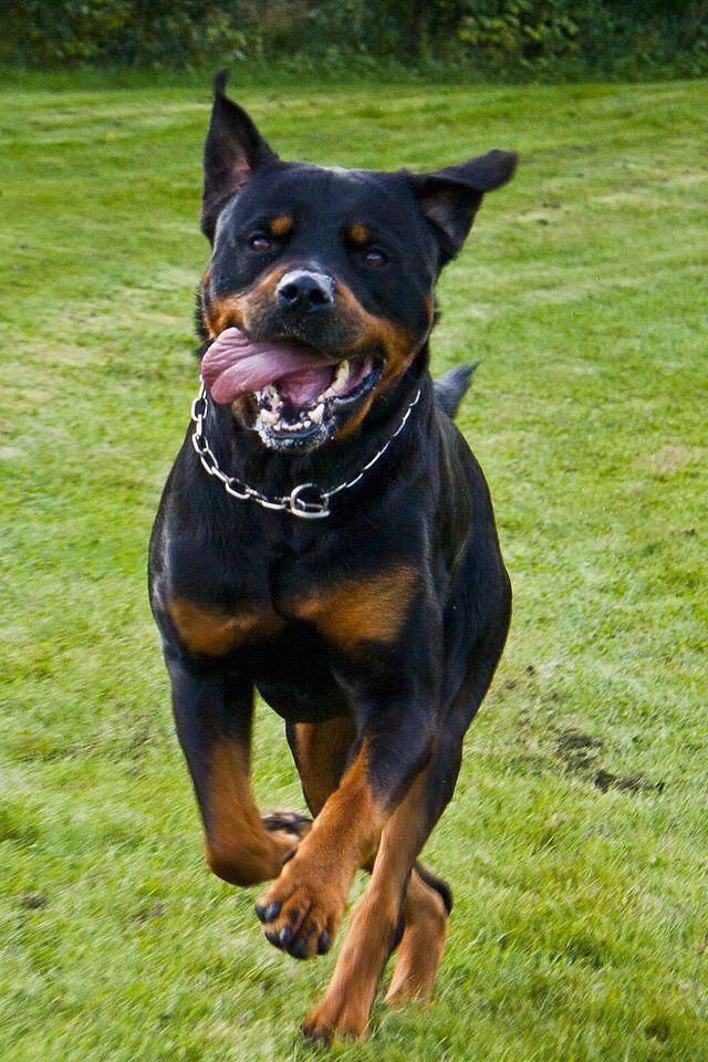
[[[363,1035],[429,995],[450,912],[416,862],[450,800],[511,593],[482,472],[433,382],[434,288],[490,152],[430,174],[282,162],[218,80],[205,152],[206,387],[150,544],[150,600],[211,870],[270,882],[268,940],[326,951],[371,872],[305,1034]],[[210,475],[207,475],[207,471]],[[285,720],[313,820],[261,816],[254,690]]]

